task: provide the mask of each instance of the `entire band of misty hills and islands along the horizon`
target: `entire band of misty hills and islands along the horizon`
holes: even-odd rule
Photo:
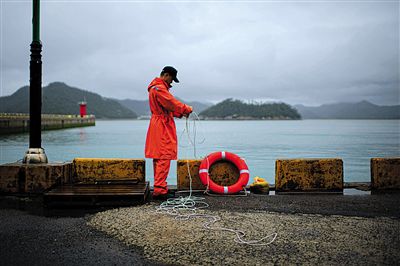
[[[87,113],[103,119],[148,119],[148,100],[111,99],[63,82],[43,87],[43,114],[79,114],[78,103],[87,101]],[[246,103],[226,99],[215,105],[185,101],[202,119],[278,120],[278,119],[400,119],[400,105],[380,106],[368,101],[333,103],[321,106],[290,106],[286,103]],[[29,87],[0,97],[0,113],[29,113]]]

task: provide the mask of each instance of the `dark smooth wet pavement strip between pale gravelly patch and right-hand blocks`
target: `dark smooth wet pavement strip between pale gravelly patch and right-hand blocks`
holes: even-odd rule
[[[296,194],[248,197],[210,196],[211,209],[400,218],[400,193],[376,195]]]

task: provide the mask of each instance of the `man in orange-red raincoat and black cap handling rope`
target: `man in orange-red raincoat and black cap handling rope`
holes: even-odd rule
[[[148,87],[151,119],[147,130],[145,156],[153,158],[153,198],[168,198],[167,176],[171,160],[177,159],[177,137],[174,117],[188,117],[193,111],[169,92],[172,81],[179,82],[178,71],[166,66],[160,77],[153,79]]]

